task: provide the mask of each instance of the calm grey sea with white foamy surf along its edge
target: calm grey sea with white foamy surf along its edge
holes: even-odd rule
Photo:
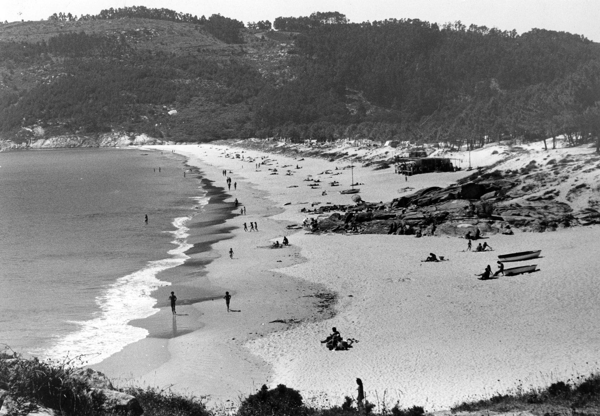
[[[208,198],[183,158],[145,153],[0,153],[0,343],[92,364],[147,335],[127,322],[158,311]]]

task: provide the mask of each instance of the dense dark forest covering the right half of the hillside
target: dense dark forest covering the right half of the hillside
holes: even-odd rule
[[[384,20],[311,26],[297,51],[298,76],[257,98],[260,134],[343,137],[354,125],[377,140],[468,146],[598,134],[600,50],[580,35]]]

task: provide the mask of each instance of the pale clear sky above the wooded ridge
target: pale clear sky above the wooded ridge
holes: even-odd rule
[[[308,16],[338,11],[351,22],[420,19],[446,23],[460,20],[518,33],[532,28],[565,31],[600,42],[600,0],[2,0],[0,21],[47,19],[53,13],[98,14],[110,7],[143,5],[169,8],[198,17],[220,13],[244,23],[279,16]]]

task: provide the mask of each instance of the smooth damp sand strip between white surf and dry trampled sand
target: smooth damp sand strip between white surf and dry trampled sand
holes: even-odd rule
[[[197,396],[209,392],[212,405],[229,406],[227,402],[230,403],[230,400],[252,394],[269,381],[270,367],[245,349],[247,340],[286,330],[299,321],[326,319],[331,312],[316,309],[314,294],[326,291],[322,285],[307,284],[302,279],[270,271],[269,266],[292,266],[305,259],[299,255],[296,246],[290,246],[285,251],[269,248],[270,240],[280,235],[285,227],[281,225],[282,221],[272,221],[271,216],[283,210],[274,207],[272,201],[266,198],[266,192],[258,191],[253,188],[253,183],[237,178],[238,189],[219,189],[221,187],[215,185],[218,179],[216,175],[206,173],[208,165],[198,162],[194,165],[188,156],[184,165],[195,167],[197,171],[194,174],[202,176],[203,188],[209,187],[205,195],[209,201],[202,209],[221,212],[217,214],[219,218],[203,221],[202,213],[198,213],[187,223],[190,228],[188,243],[192,243],[193,247],[185,254],[190,258],[184,264],[160,274],[161,280],[171,282],[171,285],[152,293],[152,297],[158,299],[155,307],[160,311],[149,318],[130,322],[130,325],[148,330],[149,335],[101,363],[94,364],[93,368],[116,378],[117,384],[156,385],[161,388],[173,384],[176,390]],[[234,178],[233,174],[228,175]],[[236,197],[240,200],[240,207],[247,207],[246,216],[230,208]],[[247,218],[259,223],[258,233],[244,233],[240,220]],[[194,234],[196,227],[202,227],[204,232]],[[211,231],[206,232],[206,228]],[[240,235],[240,232],[244,234]],[[241,241],[235,243],[236,240]],[[229,260],[226,251],[235,244],[256,250],[260,255],[239,258],[240,249],[235,248],[233,260],[242,260],[244,264],[232,264],[233,270],[229,270],[227,263],[225,267],[215,264],[221,259]],[[265,257],[271,258],[272,262],[263,267]],[[278,263],[279,258],[281,263]],[[191,273],[194,276],[182,276],[184,270],[189,269],[193,270]],[[244,274],[252,278],[248,279]],[[177,316],[169,319],[172,313],[168,301],[163,298],[166,299],[172,290],[178,296]],[[233,296],[232,311],[241,312],[226,312],[222,299],[226,290]],[[247,309],[250,315],[242,318],[242,323],[239,320],[232,321],[236,318],[234,315],[242,316]],[[256,321],[259,313],[262,319]],[[190,371],[189,363],[186,364],[189,360],[185,358],[190,351],[188,345],[194,345],[196,351],[208,353],[212,358],[203,360],[199,364],[201,368],[198,366]],[[233,361],[232,357],[235,357]],[[225,377],[229,381],[221,378],[218,382],[214,376],[207,376],[203,378],[204,381],[197,376],[199,372],[218,374],[223,367],[229,367],[230,372],[235,374],[233,379],[239,381],[231,381],[229,375]],[[215,391],[215,385],[221,383],[224,388]]]

